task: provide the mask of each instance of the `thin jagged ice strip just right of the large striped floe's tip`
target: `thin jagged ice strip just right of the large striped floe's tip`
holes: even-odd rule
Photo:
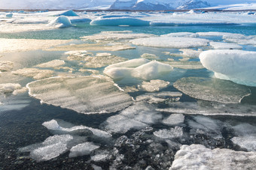
[[[136,101],[146,101],[147,103],[168,103],[176,102],[180,99],[182,94],[175,91],[162,91],[159,93],[142,94],[136,97]]]

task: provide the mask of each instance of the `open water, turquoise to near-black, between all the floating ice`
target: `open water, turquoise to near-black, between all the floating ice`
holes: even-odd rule
[[[22,33],[8,33],[0,34],[1,38],[26,38],[26,39],[79,39],[79,37],[97,34],[100,31],[126,31],[130,30],[133,33],[146,33],[146,34],[169,34],[172,32],[200,32],[200,31],[221,31],[221,32],[230,32],[230,33],[239,33],[245,35],[256,35],[256,25],[207,25],[207,26],[179,26],[179,27],[112,27],[112,26],[90,26],[88,23],[82,24],[78,23],[72,28],[65,29],[56,29],[51,31],[30,31]],[[205,37],[210,40],[218,41],[219,37]],[[81,42],[79,42],[81,43]],[[207,49],[207,47],[205,48]],[[243,49],[256,51],[254,46],[243,46]],[[90,50],[89,50],[90,51]],[[104,51],[92,51],[93,54],[97,52]],[[111,52],[113,55],[117,55],[127,59],[139,58],[143,53],[151,53],[160,57],[160,61],[166,61],[167,58],[173,58],[175,61],[178,61],[177,57],[170,57],[164,55],[163,52],[173,52],[177,53],[178,49],[167,49],[167,48],[152,48],[152,47],[143,47],[136,46],[136,49],[124,50]],[[32,52],[16,52],[4,54],[4,57],[1,59],[15,61],[16,57],[19,56],[20,65],[15,68],[22,67],[32,67],[35,64],[40,64],[47,62],[53,59],[64,59],[66,60],[66,55],[64,52],[46,52],[42,50],[36,50]],[[190,59],[190,61],[199,61],[199,58]],[[77,65],[76,61],[67,61],[66,66],[74,68],[74,73],[79,76],[87,75],[86,73],[78,73],[80,67]],[[104,67],[98,68],[100,73],[104,70]],[[59,70],[59,73],[65,72]],[[185,70],[180,68],[175,68],[173,72],[168,73],[160,77],[165,81],[169,81],[171,85],[167,88],[163,88],[162,91],[178,91],[172,86],[172,83],[181,79],[182,77],[211,77],[213,73],[206,69],[195,69],[195,70]],[[12,80],[14,81],[14,80]],[[8,82],[8,79],[3,79],[0,77],[1,83]],[[32,82],[31,78],[23,78],[16,80],[14,82],[19,82],[21,85],[25,86],[26,83]],[[117,80],[115,81],[120,87],[126,85],[137,85],[142,82],[138,79],[132,79],[132,81],[126,80]],[[242,100],[242,104],[256,106],[256,88],[247,87],[251,90],[251,96],[245,97]],[[139,92],[130,92],[132,97],[137,97],[140,94],[145,94],[145,91]],[[116,169],[145,169],[148,165],[152,166],[154,169],[168,169],[170,163],[174,159],[174,154],[178,151],[177,148],[169,147],[166,142],[163,140],[156,139],[153,135],[154,131],[169,128],[166,125],[152,124],[151,127],[153,130],[143,131],[143,130],[130,130],[124,134],[114,134],[112,139],[109,141],[104,141],[103,139],[94,139],[89,136],[87,141],[95,142],[101,146],[99,151],[92,153],[90,155],[69,158],[69,152],[61,154],[59,157],[54,158],[53,160],[47,160],[43,162],[36,162],[35,160],[29,157],[29,153],[21,153],[19,148],[23,148],[27,145],[32,145],[40,142],[44,142],[49,136],[53,136],[53,133],[47,128],[43,127],[45,121],[62,120],[74,125],[84,125],[87,127],[93,127],[96,129],[103,129],[104,122],[107,118],[119,114],[118,112],[110,114],[96,114],[96,115],[84,115],[77,113],[69,109],[62,109],[58,106],[51,106],[45,103],[40,103],[39,100],[36,100],[32,97],[29,97],[29,94],[20,94],[18,96],[8,96],[1,98],[3,103],[11,103],[8,109],[5,106],[0,105],[0,169],[92,169],[92,165],[101,166],[102,169],[109,169],[113,166]],[[26,101],[26,102],[24,102]],[[183,95],[180,99],[181,103],[190,102],[197,103],[197,99]],[[17,104],[18,103],[18,104]],[[25,104],[26,106],[21,106]],[[158,109],[164,109],[172,106],[171,104],[151,104],[153,107]],[[206,105],[215,106],[215,103],[207,103]],[[14,109],[14,107],[16,109]],[[173,106],[177,107],[177,106]],[[231,106],[233,107],[233,106]],[[255,107],[252,107],[254,109]],[[248,110],[251,110],[251,107],[248,107]],[[168,112],[160,112],[163,118],[169,116]],[[190,134],[190,130],[193,127],[190,127],[188,122],[194,120],[197,117],[209,118],[214,121],[221,122],[221,139],[215,139],[215,136],[209,134]],[[218,124],[218,123],[217,123]],[[227,124],[227,127],[223,126]],[[237,124],[251,124],[256,126],[256,118],[254,116],[225,116],[225,115],[215,115],[215,116],[203,116],[203,115],[185,115],[184,123],[181,124],[181,127],[184,128],[184,133],[191,135],[191,138],[187,136],[181,137],[181,139],[175,139],[175,142],[181,143],[182,145],[190,144],[202,144],[206,145],[208,148],[231,148],[236,151],[246,151],[244,148],[239,148],[238,145],[234,145],[230,142],[230,139],[235,136],[232,128],[229,126],[235,126]],[[139,135],[141,134],[141,135]],[[124,140],[121,137],[125,135],[130,140]],[[103,140],[103,141],[102,141]],[[151,144],[148,144],[147,141],[152,140]],[[122,145],[118,146],[117,143],[120,142]],[[161,145],[158,146],[157,144]],[[155,150],[151,145],[157,145]],[[137,148],[136,148],[137,147]],[[113,154],[112,151],[117,150],[119,154]],[[107,151],[111,155],[108,160],[104,161],[91,161],[93,154],[96,154],[101,151]],[[169,152],[167,152],[169,151]],[[158,154],[168,153],[165,156],[158,157]],[[124,155],[123,160],[120,163],[117,163],[117,157]],[[166,160],[167,159],[167,160]],[[143,161],[144,162],[143,162]],[[142,163],[143,162],[143,163]],[[164,164],[165,162],[169,162]],[[163,164],[162,164],[163,163]]]

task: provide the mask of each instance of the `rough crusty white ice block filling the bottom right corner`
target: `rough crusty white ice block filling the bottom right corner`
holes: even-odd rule
[[[220,148],[211,150],[203,145],[182,145],[169,170],[254,169],[255,160],[255,152]]]

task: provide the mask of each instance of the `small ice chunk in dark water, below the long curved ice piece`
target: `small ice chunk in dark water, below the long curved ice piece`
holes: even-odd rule
[[[99,148],[99,146],[94,145],[92,142],[85,142],[78,145],[75,145],[70,149],[69,157],[78,157],[83,155],[88,155],[92,151]]]

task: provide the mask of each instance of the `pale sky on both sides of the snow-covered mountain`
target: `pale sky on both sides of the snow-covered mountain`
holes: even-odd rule
[[[0,0],[0,9],[81,9],[86,7],[108,7],[115,0]],[[120,0],[122,1],[122,0]],[[125,0],[127,1],[127,0]],[[168,0],[156,0],[168,1]],[[169,0],[170,2],[175,0]],[[256,0],[201,0],[212,6],[239,3],[256,3]]]

